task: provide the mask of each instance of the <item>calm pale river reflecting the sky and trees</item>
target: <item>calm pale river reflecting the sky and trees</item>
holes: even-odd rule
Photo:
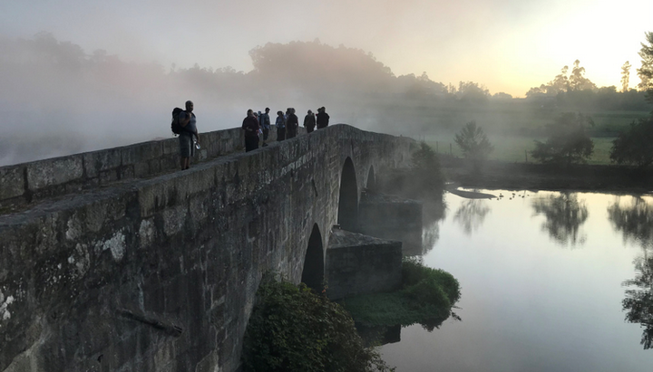
[[[424,263],[460,281],[462,320],[402,329],[385,361],[398,372],[653,371],[644,328],[622,306],[642,270],[653,293],[653,197],[480,191],[503,197],[446,193],[424,231]]]

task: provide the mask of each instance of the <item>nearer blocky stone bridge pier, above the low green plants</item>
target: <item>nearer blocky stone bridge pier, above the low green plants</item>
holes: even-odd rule
[[[334,229],[327,248],[329,299],[395,291],[402,285],[402,243]]]

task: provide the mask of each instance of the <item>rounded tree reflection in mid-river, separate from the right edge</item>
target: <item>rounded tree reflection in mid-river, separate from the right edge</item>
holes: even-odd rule
[[[586,235],[579,237],[580,225],[585,223],[588,210],[585,203],[580,202],[575,194],[563,193],[560,196],[547,196],[532,201],[535,215],[544,215],[546,222],[542,230],[561,244],[571,243],[582,245]]]

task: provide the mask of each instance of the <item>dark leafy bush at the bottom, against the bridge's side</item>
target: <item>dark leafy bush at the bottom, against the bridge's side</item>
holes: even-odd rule
[[[246,371],[389,371],[354,321],[323,295],[269,275],[258,288],[243,346]]]

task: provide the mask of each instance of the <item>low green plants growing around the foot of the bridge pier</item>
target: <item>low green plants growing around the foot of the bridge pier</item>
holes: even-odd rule
[[[402,274],[399,291],[357,296],[341,303],[364,326],[419,323],[432,330],[449,318],[453,304],[460,299],[460,285],[452,274],[426,267],[416,259],[404,259]]]

